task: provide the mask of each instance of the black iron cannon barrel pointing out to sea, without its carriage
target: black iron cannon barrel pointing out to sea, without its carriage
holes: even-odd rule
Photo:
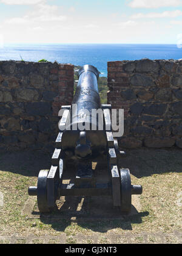
[[[98,116],[92,114],[93,109],[102,108],[98,92],[99,71],[92,65],[85,65],[79,69],[78,78],[70,108],[70,122],[66,123],[62,134],[62,149],[68,156],[93,159],[107,147],[104,128],[98,130]]]

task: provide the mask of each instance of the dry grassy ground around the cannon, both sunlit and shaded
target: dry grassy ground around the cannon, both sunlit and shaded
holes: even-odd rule
[[[61,198],[67,216],[39,216],[27,189],[50,165],[50,154],[39,151],[1,154],[0,243],[181,243],[181,150],[127,150],[120,165],[130,169],[132,184],[143,185],[131,215],[116,216],[109,199]]]

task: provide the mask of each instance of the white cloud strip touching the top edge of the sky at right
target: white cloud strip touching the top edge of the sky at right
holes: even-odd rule
[[[129,6],[132,8],[159,8],[182,5],[181,0],[132,0]]]

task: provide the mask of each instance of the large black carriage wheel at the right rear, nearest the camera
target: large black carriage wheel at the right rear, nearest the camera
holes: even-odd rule
[[[120,169],[121,173],[121,211],[129,213],[132,205],[132,185],[129,169]]]

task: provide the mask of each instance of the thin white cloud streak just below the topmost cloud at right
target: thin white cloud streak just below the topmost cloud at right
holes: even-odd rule
[[[165,11],[162,13],[136,13],[132,16],[130,16],[130,18],[132,19],[140,19],[140,18],[175,18],[178,16],[182,15],[182,11],[181,10],[175,10],[175,11]]]

